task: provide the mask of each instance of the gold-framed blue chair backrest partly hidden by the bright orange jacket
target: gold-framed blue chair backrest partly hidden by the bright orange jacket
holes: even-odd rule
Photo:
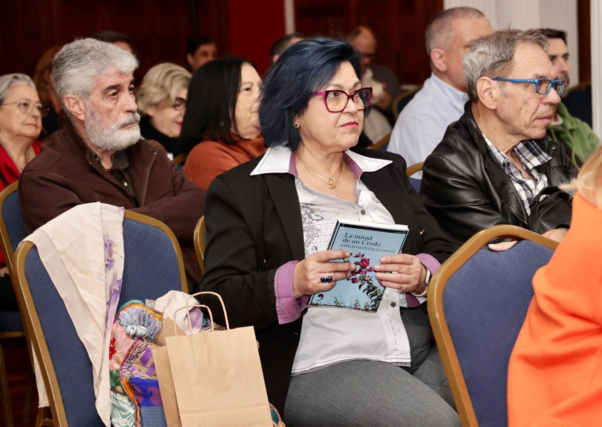
[[[523,239],[503,252],[482,246]],[[511,225],[480,231],[436,272],[428,311],[463,426],[507,425],[510,353],[533,296],[532,278],[557,243]]]

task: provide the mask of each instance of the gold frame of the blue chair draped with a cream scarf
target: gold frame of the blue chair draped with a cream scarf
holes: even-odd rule
[[[146,223],[151,226],[155,226],[167,234],[167,236],[172,241],[173,247],[176,251],[176,256],[178,257],[178,266],[180,270],[180,283],[182,291],[187,292],[188,285],[184,273],[184,261],[182,260],[182,251],[180,249],[178,240],[173,234],[173,231],[160,220],[151,218],[143,214],[135,213],[132,211],[125,211],[123,217],[138,222]],[[52,420],[54,420],[53,424],[45,424],[44,422],[48,422],[48,420],[41,420],[41,422],[37,425],[54,425],[57,427],[66,427],[68,425],[67,416],[65,414],[63,399],[61,398],[61,390],[58,387],[57,375],[54,371],[54,364],[48,351],[48,344],[46,344],[46,338],[44,336],[44,332],[42,331],[42,325],[40,324],[40,319],[36,311],[36,305],[34,304],[33,297],[31,296],[31,291],[29,291],[29,284],[25,275],[25,259],[31,248],[33,248],[33,246],[35,246],[33,242],[22,242],[19,245],[19,248],[17,248],[17,251],[15,252],[14,265],[16,267],[17,283],[19,287],[19,292],[17,292],[17,301],[19,302],[19,309],[23,314],[23,323],[27,324],[25,330],[33,331],[33,334],[31,336],[31,338],[33,339],[31,340],[31,342],[33,344],[34,351],[36,352],[38,361],[40,363],[40,370],[42,371],[44,384],[46,385],[46,390],[48,391],[48,399],[50,402]],[[96,409],[90,408],[90,410],[95,411]],[[40,417],[44,417],[42,411],[40,411],[39,413],[39,420]]]

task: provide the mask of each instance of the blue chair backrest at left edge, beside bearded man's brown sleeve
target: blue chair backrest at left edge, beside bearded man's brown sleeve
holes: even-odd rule
[[[13,279],[14,248],[25,238],[23,214],[19,203],[19,181],[13,182],[0,192],[0,235],[8,273]]]

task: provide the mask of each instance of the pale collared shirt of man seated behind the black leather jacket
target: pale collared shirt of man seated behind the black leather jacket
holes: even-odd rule
[[[468,93],[431,73],[397,117],[387,151],[402,155],[408,166],[426,160],[443,139],[447,126],[464,114],[467,101]],[[414,178],[422,178],[422,172]]]

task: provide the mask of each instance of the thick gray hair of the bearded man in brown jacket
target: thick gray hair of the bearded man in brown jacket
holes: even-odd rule
[[[137,67],[134,55],[119,46],[96,39],[78,39],[58,51],[52,61],[52,76],[64,103],[68,94],[90,99],[96,76],[114,70],[132,73]]]

